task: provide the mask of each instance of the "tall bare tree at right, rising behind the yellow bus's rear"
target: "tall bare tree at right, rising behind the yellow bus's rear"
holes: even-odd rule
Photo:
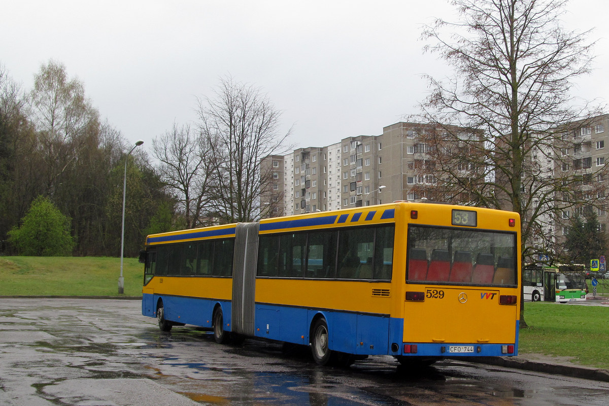
[[[428,76],[432,88],[423,110],[437,124],[435,159],[440,187],[461,189],[474,204],[521,215],[523,264],[538,250],[534,236],[573,201],[577,173],[555,177],[565,133],[598,114],[575,108],[572,80],[588,73],[588,32],[566,32],[562,0],[455,0],[456,23],[442,19],[423,37],[454,69],[448,80]],[[445,35],[448,29],[451,34]],[[479,131],[464,136],[446,124]],[[470,131],[470,134],[473,133]],[[423,136],[423,142],[431,141]],[[457,157],[445,153],[459,150]],[[460,165],[459,166],[459,161]],[[475,176],[466,176],[473,170]],[[466,181],[474,178],[476,181]],[[549,241],[550,237],[545,239]],[[546,247],[549,248],[549,247]],[[521,325],[524,310],[521,307]]]

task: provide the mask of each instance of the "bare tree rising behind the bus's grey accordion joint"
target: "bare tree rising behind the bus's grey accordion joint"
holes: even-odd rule
[[[261,89],[231,78],[220,80],[214,98],[198,101],[199,126],[213,147],[217,214],[223,222],[259,219],[262,189],[272,178],[262,159],[288,148],[290,131],[278,133],[281,112]]]

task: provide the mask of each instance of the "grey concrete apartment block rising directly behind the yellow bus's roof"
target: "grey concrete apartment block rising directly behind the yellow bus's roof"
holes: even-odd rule
[[[381,135],[269,156],[262,167],[274,172],[262,195],[262,217],[420,200],[414,186],[435,180],[420,174],[429,157],[418,135],[432,129],[398,122],[384,127]]]

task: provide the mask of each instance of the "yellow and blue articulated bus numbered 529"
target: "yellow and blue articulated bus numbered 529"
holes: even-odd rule
[[[147,237],[142,313],[315,362],[518,353],[520,219],[395,202]]]

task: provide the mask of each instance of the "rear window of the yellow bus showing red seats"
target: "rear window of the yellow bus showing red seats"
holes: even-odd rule
[[[516,234],[409,225],[408,282],[516,285]]]

